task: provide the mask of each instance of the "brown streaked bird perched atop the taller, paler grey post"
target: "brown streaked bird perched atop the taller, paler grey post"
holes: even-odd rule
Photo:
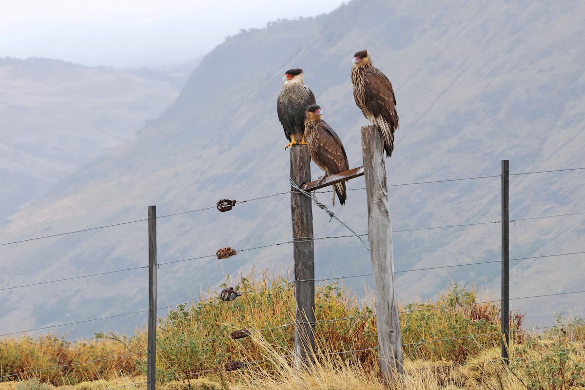
[[[394,132],[398,129],[396,98],[392,83],[371,64],[367,50],[353,55],[352,84],[356,105],[362,109],[370,125],[378,126],[386,156],[392,156]]]

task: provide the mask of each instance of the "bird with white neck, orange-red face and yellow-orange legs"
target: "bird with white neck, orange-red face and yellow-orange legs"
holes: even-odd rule
[[[305,132],[305,109],[315,104],[315,95],[302,80],[302,69],[295,68],[287,70],[283,77],[283,89],[278,94],[276,108],[278,120],[283,125],[284,135],[290,141],[284,149],[294,144],[306,145]],[[297,139],[295,139],[295,137]],[[298,139],[301,141],[299,142]]]

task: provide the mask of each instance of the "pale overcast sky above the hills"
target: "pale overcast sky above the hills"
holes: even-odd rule
[[[16,0],[0,11],[0,57],[84,65],[181,63],[240,29],[315,16],[343,0]]]

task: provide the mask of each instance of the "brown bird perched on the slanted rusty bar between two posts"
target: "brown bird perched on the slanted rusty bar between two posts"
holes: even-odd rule
[[[305,112],[305,139],[309,145],[311,159],[319,168],[325,171],[323,181],[329,175],[349,170],[347,154],[341,140],[335,131],[321,117],[323,111],[316,104],[307,107]],[[347,199],[345,181],[335,184],[333,193],[333,205],[335,206],[335,194],[342,205]]]

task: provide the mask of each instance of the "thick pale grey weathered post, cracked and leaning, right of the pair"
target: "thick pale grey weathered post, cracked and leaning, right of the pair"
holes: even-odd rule
[[[395,292],[392,227],[388,208],[386,161],[380,130],[362,127],[362,152],[367,192],[367,231],[374,274],[374,303],[378,327],[378,364],[386,386],[403,374],[402,340]]]

